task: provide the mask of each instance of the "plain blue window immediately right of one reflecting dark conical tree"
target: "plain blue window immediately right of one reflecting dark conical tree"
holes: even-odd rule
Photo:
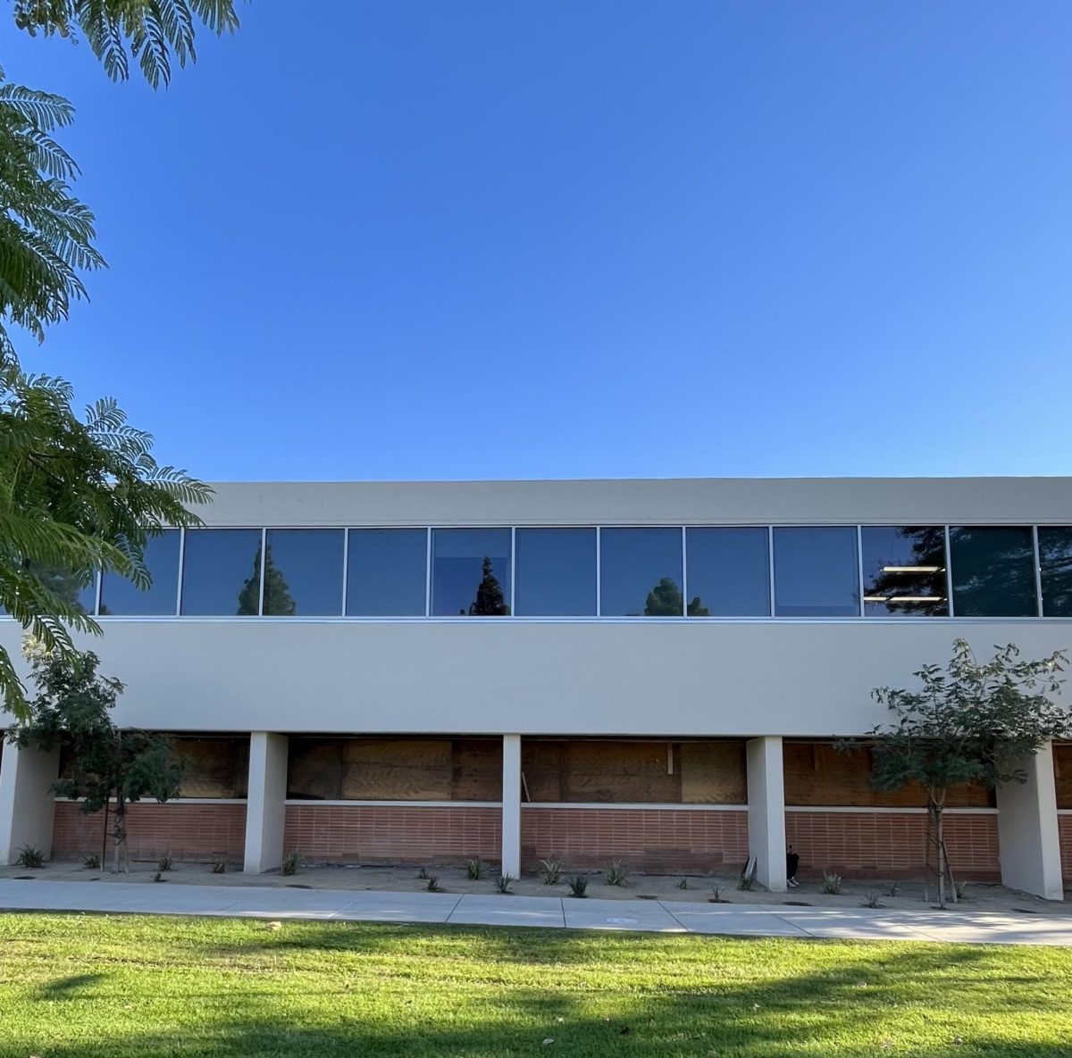
[[[595,614],[595,529],[518,529],[516,544],[518,614]]]

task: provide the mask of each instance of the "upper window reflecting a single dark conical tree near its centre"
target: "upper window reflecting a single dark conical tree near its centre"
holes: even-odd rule
[[[505,617],[510,613],[510,530],[432,531],[432,614]]]

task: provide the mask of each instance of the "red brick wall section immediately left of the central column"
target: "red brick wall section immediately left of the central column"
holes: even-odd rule
[[[502,834],[498,808],[288,804],[283,847],[313,863],[498,863]]]

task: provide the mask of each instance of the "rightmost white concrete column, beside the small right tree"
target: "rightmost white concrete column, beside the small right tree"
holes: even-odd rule
[[[1002,783],[997,790],[1001,883],[1043,900],[1063,900],[1053,746],[1021,767],[1027,782]]]

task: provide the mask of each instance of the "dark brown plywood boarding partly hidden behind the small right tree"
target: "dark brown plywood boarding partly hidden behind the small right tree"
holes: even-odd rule
[[[786,742],[783,746],[786,804],[830,807],[924,807],[926,794],[918,784],[899,790],[875,790],[870,785],[870,754],[866,749],[838,752],[829,742]],[[989,807],[993,795],[976,784],[949,791],[948,807]]]

